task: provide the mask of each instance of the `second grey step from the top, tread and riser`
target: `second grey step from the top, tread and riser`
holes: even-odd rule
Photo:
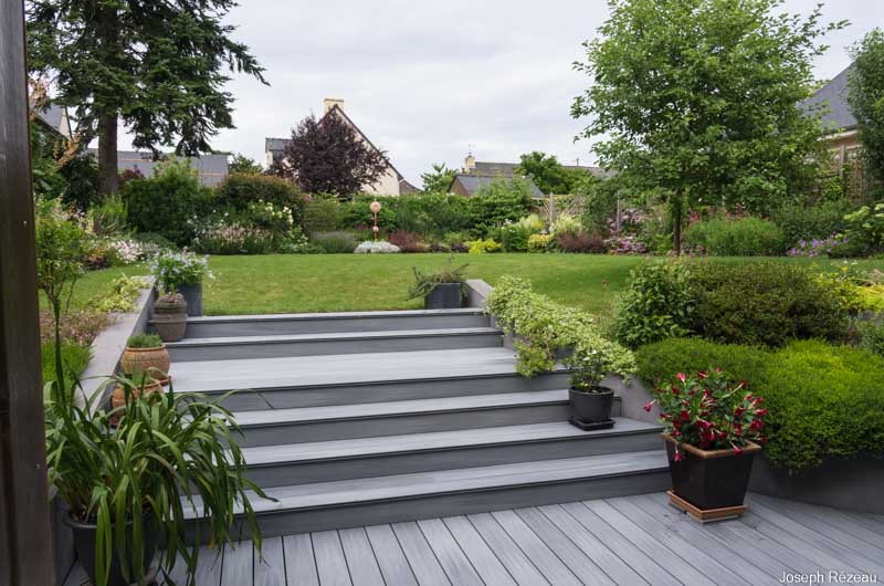
[[[166,344],[173,362],[281,358],[454,348],[485,348],[503,345],[494,327],[347,332],[238,337],[187,338]]]

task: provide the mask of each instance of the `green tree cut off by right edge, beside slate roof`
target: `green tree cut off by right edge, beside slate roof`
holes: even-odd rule
[[[884,31],[874,29],[851,50],[848,102],[856,118],[869,172],[884,181]]]

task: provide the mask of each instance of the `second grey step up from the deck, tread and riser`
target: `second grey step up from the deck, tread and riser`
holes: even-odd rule
[[[660,447],[660,427],[615,419],[581,431],[564,421],[243,449],[262,488],[407,474],[476,465],[601,456]]]

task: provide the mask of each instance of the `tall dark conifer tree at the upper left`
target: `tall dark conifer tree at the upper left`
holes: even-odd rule
[[[136,148],[175,144],[178,155],[208,151],[232,128],[233,96],[222,71],[264,82],[249,49],[230,39],[232,0],[29,0],[28,65],[57,88],[53,102],[73,108],[84,144],[98,137],[105,195],[117,191],[117,126]],[[264,82],[265,83],[265,82]]]

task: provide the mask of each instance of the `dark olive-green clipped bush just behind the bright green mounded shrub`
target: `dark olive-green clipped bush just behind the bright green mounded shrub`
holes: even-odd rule
[[[791,339],[844,339],[849,316],[836,291],[808,268],[775,262],[698,262],[691,269],[690,329],[706,339],[783,346]]]

